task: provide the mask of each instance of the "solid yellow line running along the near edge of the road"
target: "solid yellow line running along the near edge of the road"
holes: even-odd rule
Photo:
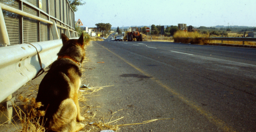
[[[94,41],[95,42],[95,41]],[[97,45],[97,42],[95,42]],[[168,87],[167,85],[163,84],[161,81],[159,81],[158,79],[154,78],[152,75],[149,75],[148,73],[146,73],[145,71],[143,71],[142,69],[138,68],[137,66],[134,66],[133,64],[131,64],[130,62],[128,62],[126,59],[123,59],[122,57],[120,57],[118,54],[115,54],[114,52],[110,51],[109,49],[105,48],[104,46],[100,45],[101,47],[103,47],[104,49],[106,49],[107,51],[111,52],[112,54],[114,54],[116,57],[120,58],[121,60],[123,60],[124,62],[126,62],[128,65],[132,66],[133,68],[135,68],[137,71],[140,71],[142,74],[150,76],[152,78],[152,80],[154,80],[158,85],[160,85],[161,87],[164,87],[167,91],[171,92],[172,94],[174,94],[176,97],[178,97],[180,100],[184,101],[187,105],[191,106],[192,108],[194,108],[196,111],[198,111],[200,114],[204,115],[209,121],[211,121],[213,124],[215,124],[217,127],[220,127],[222,130],[224,130],[225,132],[236,132],[236,130],[227,125],[223,120],[218,119],[216,116],[212,115],[210,112],[204,110],[201,106],[197,105],[196,103],[194,103],[193,101],[190,101],[188,99],[186,99],[186,97],[184,97],[182,94],[176,92],[175,90],[171,89],[170,87]]]

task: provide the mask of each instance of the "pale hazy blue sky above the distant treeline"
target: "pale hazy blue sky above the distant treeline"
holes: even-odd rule
[[[82,1],[82,0],[81,0]],[[83,26],[256,26],[256,0],[83,0],[75,20]]]

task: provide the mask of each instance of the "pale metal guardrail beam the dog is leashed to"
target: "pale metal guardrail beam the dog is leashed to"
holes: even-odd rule
[[[31,43],[46,68],[57,59],[62,40]],[[40,70],[36,48],[29,44],[0,48],[0,102],[30,81]]]

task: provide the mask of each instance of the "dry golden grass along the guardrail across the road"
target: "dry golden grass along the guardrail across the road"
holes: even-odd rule
[[[219,37],[219,36],[213,36]],[[192,38],[192,39],[189,39]],[[207,34],[201,34],[198,32],[184,32],[178,31],[173,35],[174,42],[191,43],[191,44],[210,44],[221,43],[221,40],[201,40],[199,38],[209,38]],[[235,44],[242,45],[242,41],[223,41],[223,44]],[[256,42],[244,42],[244,45],[256,45]]]

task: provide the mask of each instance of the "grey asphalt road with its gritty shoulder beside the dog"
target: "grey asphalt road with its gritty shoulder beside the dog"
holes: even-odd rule
[[[256,50],[173,42],[93,41],[84,84],[119,132],[255,132]],[[97,63],[97,62],[104,63]],[[123,109],[121,111],[118,111]]]

